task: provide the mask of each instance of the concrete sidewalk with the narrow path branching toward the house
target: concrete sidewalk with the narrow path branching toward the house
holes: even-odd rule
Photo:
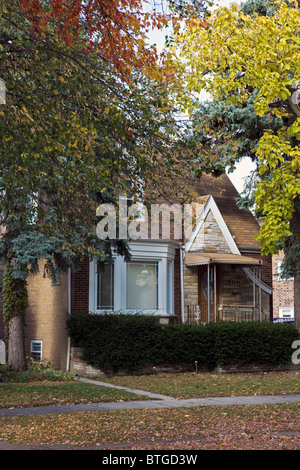
[[[137,401],[118,401],[109,403],[89,403],[78,405],[50,405],[37,406],[32,408],[11,408],[0,409],[0,417],[25,416],[25,415],[41,415],[48,413],[71,413],[74,411],[99,411],[99,410],[143,410],[157,408],[178,408],[178,407],[197,407],[197,406],[232,406],[232,405],[262,405],[275,403],[292,403],[300,402],[300,394],[298,395],[256,395],[256,396],[239,396],[239,397],[212,397],[212,398],[191,398],[179,400],[173,397],[160,395],[157,393],[146,392],[144,390],[131,389],[121,387],[119,385],[108,384],[98,380],[81,378],[81,382],[92,383],[109,388],[126,390],[128,392],[149,397],[149,400]]]

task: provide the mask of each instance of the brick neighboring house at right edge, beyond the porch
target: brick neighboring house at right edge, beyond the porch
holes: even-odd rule
[[[276,322],[294,321],[294,278],[281,275],[283,251],[273,255],[273,317]]]

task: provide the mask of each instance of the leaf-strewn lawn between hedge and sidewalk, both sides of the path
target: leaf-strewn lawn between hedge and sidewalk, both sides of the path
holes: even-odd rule
[[[57,375],[26,376],[27,382],[0,383],[0,408],[75,403],[96,403],[148,399],[125,390],[82,383]],[[43,378],[43,376],[42,376]],[[298,372],[269,372],[262,374],[153,374],[115,376],[101,381],[124,387],[151,391],[173,398],[201,398],[241,395],[300,394]]]

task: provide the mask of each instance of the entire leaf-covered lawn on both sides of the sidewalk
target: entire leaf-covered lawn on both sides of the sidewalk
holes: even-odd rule
[[[1,407],[144,399],[68,380],[0,384]],[[156,374],[105,379],[177,398],[299,393],[297,372]],[[103,379],[104,380],[104,379]],[[153,410],[91,411],[0,418],[0,440],[121,450],[299,450],[300,402]]]

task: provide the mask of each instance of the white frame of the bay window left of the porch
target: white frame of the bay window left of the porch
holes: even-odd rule
[[[114,256],[114,310],[124,313],[145,313],[159,316],[174,314],[174,242],[132,242],[129,244],[132,261],[158,263],[158,309],[128,310],[126,308],[126,262],[121,256]],[[104,313],[97,309],[97,261],[90,261],[89,311]],[[170,278],[171,276],[171,278]],[[112,310],[111,310],[112,311]]]

